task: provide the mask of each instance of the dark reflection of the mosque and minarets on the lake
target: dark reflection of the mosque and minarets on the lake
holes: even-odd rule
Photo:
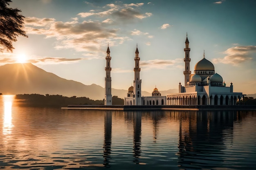
[[[112,112],[115,111],[106,110],[104,113],[103,165],[106,167],[110,167],[111,164]],[[207,167],[211,161],[213,164],[217,159],[220,161],[221,155],[224,154],[222,150],[227,149],[227,142],[232,143],[230,138],[233,138],[234,121],[242,119],[245,115],[243,112],[236,111],[126,111],[124,119],[133,124],[133,161],[136,164],[140,163],[143,154],[143,150],[141,150],[141,119],[145,117],[150,118],[153,123],[153,142],[157,141],[161,119],[177,121],[179,124],[177,127],[179,129],[178,151],[175,154],[177,166],[197,168],[197,166],[193,166],[195,159],[202,161],[204,167]],[[225,141],[226,135],[229,135],[229,141]],[[209,164],[209,168],[212,166]]]

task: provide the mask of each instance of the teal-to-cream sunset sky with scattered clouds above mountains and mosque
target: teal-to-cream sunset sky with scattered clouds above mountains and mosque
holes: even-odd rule
[[[18,37],[1,65],[32,64],[65,79],[105,86],[109,45],[112,88],[134,79],[140,57],[142,91],[184,85],[184,48],[190,68],[203,58],[234,92],[256,93],[255,0],[13,0],[29,38]]]

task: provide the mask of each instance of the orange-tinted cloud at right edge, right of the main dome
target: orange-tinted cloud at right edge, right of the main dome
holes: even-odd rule
[[[215,58],[213,63],[234,64],[252,60],[256,56],[256,46],[235,46],[227,49],[224,58]]]

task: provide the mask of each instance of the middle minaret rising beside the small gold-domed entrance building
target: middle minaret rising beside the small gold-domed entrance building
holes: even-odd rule
[[[139,50],[138,45],[135,51],[135,68],[134,68],[134,81],[133,81],[133,94],[134,96],[134,105],[141,105],[141,79],[139,79]]]

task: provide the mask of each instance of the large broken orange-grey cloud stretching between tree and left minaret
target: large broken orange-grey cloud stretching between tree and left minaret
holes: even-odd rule
[[[129,39],[126,36],[117,35],[119,29],[108,29],[103,25],[107,22],[109,23],[111,20],[107,19],[105,22],[74,20],[61,22],[52,18],[51,20],[29,18],[29,24],[26,24],[25,31],[27,34],[41,34],[45,35],[45,38],[56,38],[56,49],[73,48],[76,51],[99,51],[99,44],[103,42],[114,40],[114,42],[123,43]]]

